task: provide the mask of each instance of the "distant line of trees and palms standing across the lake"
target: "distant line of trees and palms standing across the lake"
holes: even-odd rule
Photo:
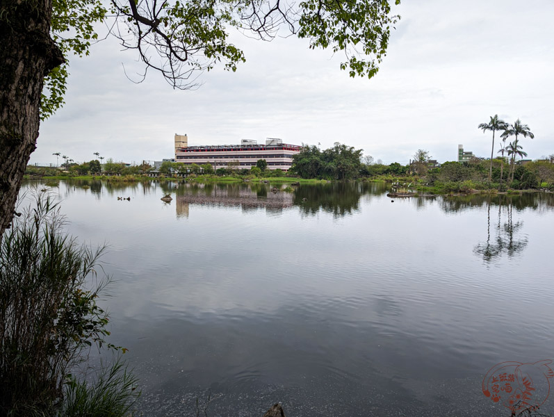
[[[505,124],[498,120],[498,116],[491,117],[489,124],[480,124],[484,131],[498,131],[502,126],[503,133],[500,138],[500,156],[489,161],[473,158],[466,162],[446,162],[438,165],[431,160],[430,152],[418,149],[409,164],[402,165],[398,162],[386,165],[370,155],[362,156],[362,149],[355,149],[348,145],[335,143],[329,149],[320,149],[313,145],[303,145],[299,154],[293,156],[293,164],[290,170],[268,170],[268,163],[260,159],[256,165],[243,168],[238,161],[228,163],[227,167],[219,167],[206,163],[186,165],[179,162],[164,161],[159,171],[165,176],[197,176],[211,175],[218,177],[300,177],[303,179],[328,179],[348,180],[359,178],[384,179],[397,181],[405,177],[412,182],[416,177],[425,186],[435,187],[441,191],[476,189],[512,188],[516,190],[528,188],[552,188],[554,189],[554,154],[544,160],[518,163],[517,158],[527,154],[521,150],[520,142],[514,140],[505,145],[506,138],[510,135],[530,137],[526,125],[517,120],[513,125]],[[496,127],[494,127],[496,126]],[[523,133],[522,133],[523,132]],[[525,134],[527,136],[525,136]],[[494,150],[494,147],[493,147]],[[152,165],[142,163],[140,165],[127,166],[124,163],[114,162],[108,159],[104,165],[95,159],[86,163],[72,163],[71,159],[63,156],[65,174],[120,174],[120,175],[144,175],[154,170]],[[28,174],[40,176],[60,174],[56,168],[39,168],[29,166]],[[410,177],[410,178],[408,178]]]

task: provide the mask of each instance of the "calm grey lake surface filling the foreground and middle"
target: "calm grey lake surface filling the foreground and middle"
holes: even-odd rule
[[[72,234],[109,245],[111,342],[129,348],[144,416],[194,416],[209,393],[209,416],[275,402],[293,417],[510,416],[482,394],[487,370],[554,359],[552,194],[391,202],[382,183],[274,194],[63,181],[53,192]]]

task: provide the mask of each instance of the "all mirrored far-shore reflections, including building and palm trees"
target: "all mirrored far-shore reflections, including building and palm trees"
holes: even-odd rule
[[[36,182],[36,181],[35,181]],[[40,183],[44,186],[44,183]],[[46,184],[48,186],[48,184]],[[296,208],[302,215],[320,212],[335,218],[359,213],[361,204],[386,192],[385,183],[343,182],[302,184],[288,186],[261,182],[252,183],[188,183],[186,181],[101,181],[65,180],[51,190],[60,197],[74,193],[91,193],[96,199],[106,197],[138,197],[138,195],[174,196],[174,201],[163,204],[175,206],[177,219],[187,219],[195,206],[225,206],[241,208],[243,212],[264,209],[268,215],[279,216]],[[363,198],[362,198],[363,197]],[[363,202],[363,203],[362,203]],[[523,193],[516,195],[466,195],[418,197],[412,204],[420,210],[437,205],[446,213],[466,210],[487,212],[487,239],[473,246],[473,253],[489,263],[504,254],[509,258],[521,254],[528,246],[523,234],[523,221],[518,213],[530,209],[539,213],[554,209],[551,193]],[[514,218],[515,216],[515,218]],[[491,219],[494,217],[494,219]]]

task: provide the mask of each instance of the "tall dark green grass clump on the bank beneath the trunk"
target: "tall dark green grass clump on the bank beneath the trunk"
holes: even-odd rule
[[[109,283],[98,274],[104,247],[79,245],[64,225],[58,204],[37,193],[0,242],[3,416],[56,414],[69,370],[91,345],[106,345],[108,316],[97,305]]]

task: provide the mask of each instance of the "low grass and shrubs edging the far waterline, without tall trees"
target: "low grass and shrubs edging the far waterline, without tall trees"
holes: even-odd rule
[[[159,177],[149,177],[144,174],[79,174],[75,171],[62,172],[57,168],[40,168],[28,166],[25,179],[42,179],[52,182],[64,179],[108,182],[136,181],[179,181],[188,183],[274,183],[288,186],[329,183],[332,181],[371,181],[390,183],[391,197],[425,197],[437,195],[469,195],[469,194],[512,194],[522,192],[553,192],[554,163],[550,161],[533,161],[526,165],[514,167],[514,181],[500,181],[500,172],[509,168],[507,161],[496,158],[493,161],[491,179],[489,180],[490,161],[476,159],[465,163],[446,162],[440,166],[432,164],[412,163],[411,165],[390,165],[360,163],[355,174],[336,178],[325,174],[315,177],[296,172],[279,173],[278,177],[271,171],[252,174],[250,170],[240,170],[231,174],[161,174]],[[505,165],[505,166],[503,166]],[[294,165],[293,165],[294,167]],[[286,175],[286,176],[285,176]],[[48,185],[48,184],[47,184]]]

